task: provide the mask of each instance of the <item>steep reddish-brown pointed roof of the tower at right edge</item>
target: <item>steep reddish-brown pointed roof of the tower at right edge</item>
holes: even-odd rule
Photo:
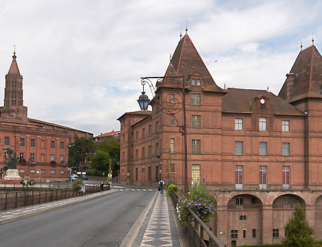
[[[290,95],[289,102],[295,102],[306,97],[322,97],[322,57],[317,47],[311,45],[299,52],[290,73],[295,74],[294,91]],[[322,92],[322,91],[321,91]],[[286,82],[280,93],[282,99],[286,99]]]

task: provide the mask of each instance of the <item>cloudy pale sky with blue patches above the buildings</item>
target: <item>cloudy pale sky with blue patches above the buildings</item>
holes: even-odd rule
[[[218,86],[277,95],[301,43],[314,37],[322,52],[321,10],[297,0],[0,0],[0,99],[15,45],[29,118],[94,136],[119,130],[116,119],[140,110],[140,78],[164,75],[186,27]]]

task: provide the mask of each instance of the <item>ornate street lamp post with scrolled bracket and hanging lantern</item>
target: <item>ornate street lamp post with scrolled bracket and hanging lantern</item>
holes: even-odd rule
[[[147,107],[149,106],[150,100],[149,100],[149,97],[147,97],[147,95],[145,95],[145,91],[144,91],[145,84],[149,85],[152,95],[156,93],[156,89],[154,88],[150,79],[158,79],[157,83],[159,83],[159,86],[161,86],[162,83],[164,83],[164,79],[169,79],[169,78],[179,79],[179,82],[176,82],[176,84],[179,84],[179,88],[182,88],[182,95],[180,95],[180,96],[182,97],[183,124],[181,126],[179,126],[177,124],[177,126],[179,127],[179,132],[181,132],[182,136],[184,137],[184,193],[186,195],[188,195],[188,154],[187,154],[188,149],[187,149],[187,134],[186,134],[186,87],[185,87],[185,83],[184,83],[184,75],[141,78],[141,84],[143,85],[143,92],[142,92],[142,95],[140,95],[140,97],[138,99],[138,104],[140,105],[141,110],[147,110]],[[160,80],[162,80],[162,82]],[[158,101],[158,97],[155,97],[155,98],[156,98],[158,108],[160,108],[167,115],[171,115],[171,110],[169,110],[169,108],[168,109],[164,108],[163,102],[162,102],[162,104],[160,104],[160,102]],[[176,103],[178,104],[178,102],[176,102],[175,99],[170,100],[171,105],[176,104]],[[166,104],[169,104],[169,102],[167,102]],[[180,110],[181,110],[180,108],[175,108],[176,113],[178,113]]]

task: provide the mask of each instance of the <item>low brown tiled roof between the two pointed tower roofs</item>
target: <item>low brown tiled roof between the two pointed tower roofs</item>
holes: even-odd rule
[[[223,112],[226,113],[251,113],[253,99],[264,96],[269,99],[271,110],[277,115],[305,115],[284,99],[266,90],[230,88],[227,91],[222,101]]]

